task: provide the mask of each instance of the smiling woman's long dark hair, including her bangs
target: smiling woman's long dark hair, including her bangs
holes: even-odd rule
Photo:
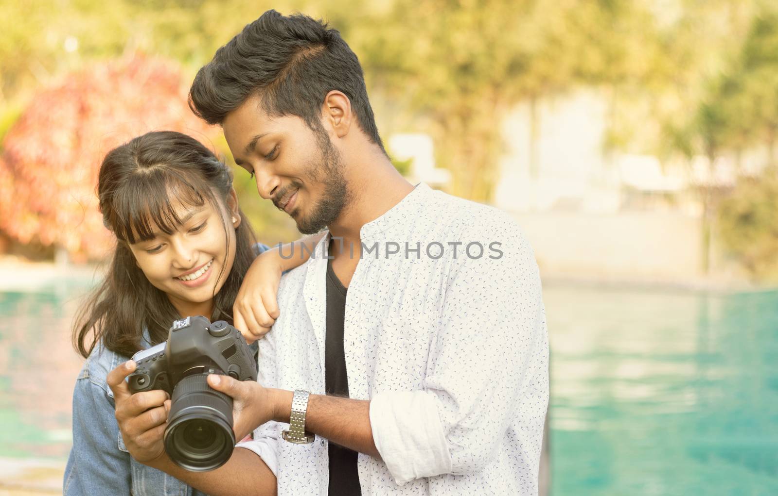
[[[170,324],[181,316],[166,294],[146,279],[129,245],[153,238],[154,228],[166,234],[176,231],[182,224],[177,206],[209,202],[222,212],[232,185],[230,168],[198,140],[173,131],[144,134],[106,155],[97,196],[103,224],[117,243],[105,280],[76,315],[73,345],[79,354],[88,357],[102,341],[107,349],[132,356],[142,348],[144,326],[152,345],[166,340]],[[212,321],[232,324],[233,301],[254,260],[254,233],[243,212],[240,217],[235,262],[214,297]],[[225,225],[225,234],[228,227],[233,228]]]

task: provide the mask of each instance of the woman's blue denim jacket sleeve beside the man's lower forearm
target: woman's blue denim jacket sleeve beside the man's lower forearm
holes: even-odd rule
[[[73,447],[65,496],[131,494],[130,455],[119,449],[113,398],[82,371],[73,391]]]

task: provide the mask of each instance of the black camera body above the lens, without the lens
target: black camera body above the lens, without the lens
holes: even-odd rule
[[[128,380],[132,393],[161,389],[172,395],[180,380],[195,373],[257,380],[257,364],[240,331],[202,316],[173,322],[166,342],[135,353],[132,360],[138,366]]]

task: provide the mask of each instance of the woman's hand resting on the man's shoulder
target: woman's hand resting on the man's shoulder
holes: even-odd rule
[[[280,314],[276,295],[283,269],[276,251],[254,259],[233,304],[233,325],[249,344],[267,334]]]

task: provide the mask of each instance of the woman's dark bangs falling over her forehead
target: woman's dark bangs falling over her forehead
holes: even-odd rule
[[[129,244],[149,241],[158,232],[173,234],[184,224],[179,214],[204,206],[211,196],[208,186],[195,178],[157,172],[136,175],[116,197],[112,224],[117,238]]]

